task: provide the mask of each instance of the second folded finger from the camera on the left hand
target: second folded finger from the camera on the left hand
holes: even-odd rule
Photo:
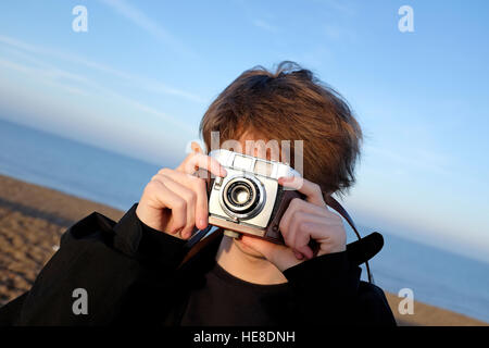
[[[172,224],[168,233],[177,234],[181,228],[185,227],[187,223],[187,203],[186,201],[172,191],[166,185],[158,178],[153,178],[148,187],[154,189],[152,198],[158,202],[159,209],[171,209],[172,210]]]

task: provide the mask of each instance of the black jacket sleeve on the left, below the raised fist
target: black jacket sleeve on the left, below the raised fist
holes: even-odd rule
[[[118,223],[92,213],[68,228],[30,290],[0,309],[0,323],[111,324],[121,320],[126,299],[145,279],[158,274],[171,286],[185,240],[146,226],[136,208]]]

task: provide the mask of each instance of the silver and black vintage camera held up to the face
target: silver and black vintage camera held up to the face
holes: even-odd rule
[[[280,176],[301,175],[287,164],[233,152],[211,151],[227,171],[226,177],[213,177],[209,192],[209,223],[284,244],[278,223],[298,191],[278,185]]]

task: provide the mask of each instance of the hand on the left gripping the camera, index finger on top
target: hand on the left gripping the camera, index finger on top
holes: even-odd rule
[[[145,187],[136,215],[146,225],[188,239],[197,226],[209,224],[208,191],[204,178],[192,175],[204,169],[216,176],[226,176],[217,160],[192,146],[190,153],[175,170],[162,169]]]

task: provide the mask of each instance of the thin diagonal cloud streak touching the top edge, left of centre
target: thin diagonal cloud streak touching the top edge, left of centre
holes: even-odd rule
[[[161,24],[151,20],[146,13],[138,8],[129,4],[125,0],[101,0],[103,3],[113,9],[135,25],[168,45],[175,52],[184,55],[193,55],[190,48],[188,48],[181,40],[177,39],[173,34],[165,29]]]

